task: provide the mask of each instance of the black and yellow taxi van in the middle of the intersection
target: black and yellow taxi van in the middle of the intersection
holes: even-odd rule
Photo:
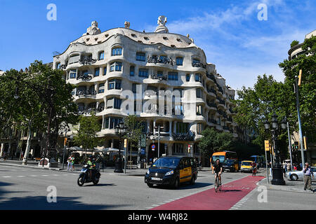
[[[197,179],[197,162],[192,157],[162,156],[147,170],[145,183],[178,188],[180,183],[195,184]]]

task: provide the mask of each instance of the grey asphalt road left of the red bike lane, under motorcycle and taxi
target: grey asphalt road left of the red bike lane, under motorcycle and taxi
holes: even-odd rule
[[[225,173],[223,183],[248,174]],[[0,209],[151,209],[213,188],[211,172],[199,172],[194,186],[178,190],[148,188],[143,176],[103,173],[97,186],[77,186],[78,173],[0,165]],[[48,203],[48,186],[55,186],[57,203]]]

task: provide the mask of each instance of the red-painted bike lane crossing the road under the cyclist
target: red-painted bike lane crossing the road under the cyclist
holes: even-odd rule
[[[216,193],[214,188],[211,188],[150,210],[228,210],[254,190],[256,183],[262,179],[263,176],[246,176],[223,184],[220,192]]]

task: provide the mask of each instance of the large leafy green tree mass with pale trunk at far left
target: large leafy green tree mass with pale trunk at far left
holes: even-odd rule
[[[65,82],[63,71],[53,70],[39,61],[25,71],[11,69],[0,77],[0,94],[4,96],[0,100],[0,127],[6,129],[13,124],[17,127],[27,124],[29,137],[25,164],[35,129],[46,131],[49,147],[58,137],[51,132],[58,133],[60,123],[77,123],[77,105],[71,94],[73,88]]]

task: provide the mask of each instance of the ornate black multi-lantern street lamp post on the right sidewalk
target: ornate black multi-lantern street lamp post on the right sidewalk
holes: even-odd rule
[[[265,120],[264,122],[265,130],[270,130],[270,123],[268,120]],[[272,181],[271,183],[273,185],[285,185],[285,181],[283,179],[283,172],[281,167],[281,161],[279,158],[279,147],[277,146],[277,136],[278,136],[278,130],[279,130],[279,124],[277,122],[277,116],[274,113],[272,116],[272,122],[271,122],[271,132],[272,132],[272,141],[275,149],[275,163],[273,164],[272,168]],[[281,128],[286,129],[287,123],[284,123],[282,121]]]

